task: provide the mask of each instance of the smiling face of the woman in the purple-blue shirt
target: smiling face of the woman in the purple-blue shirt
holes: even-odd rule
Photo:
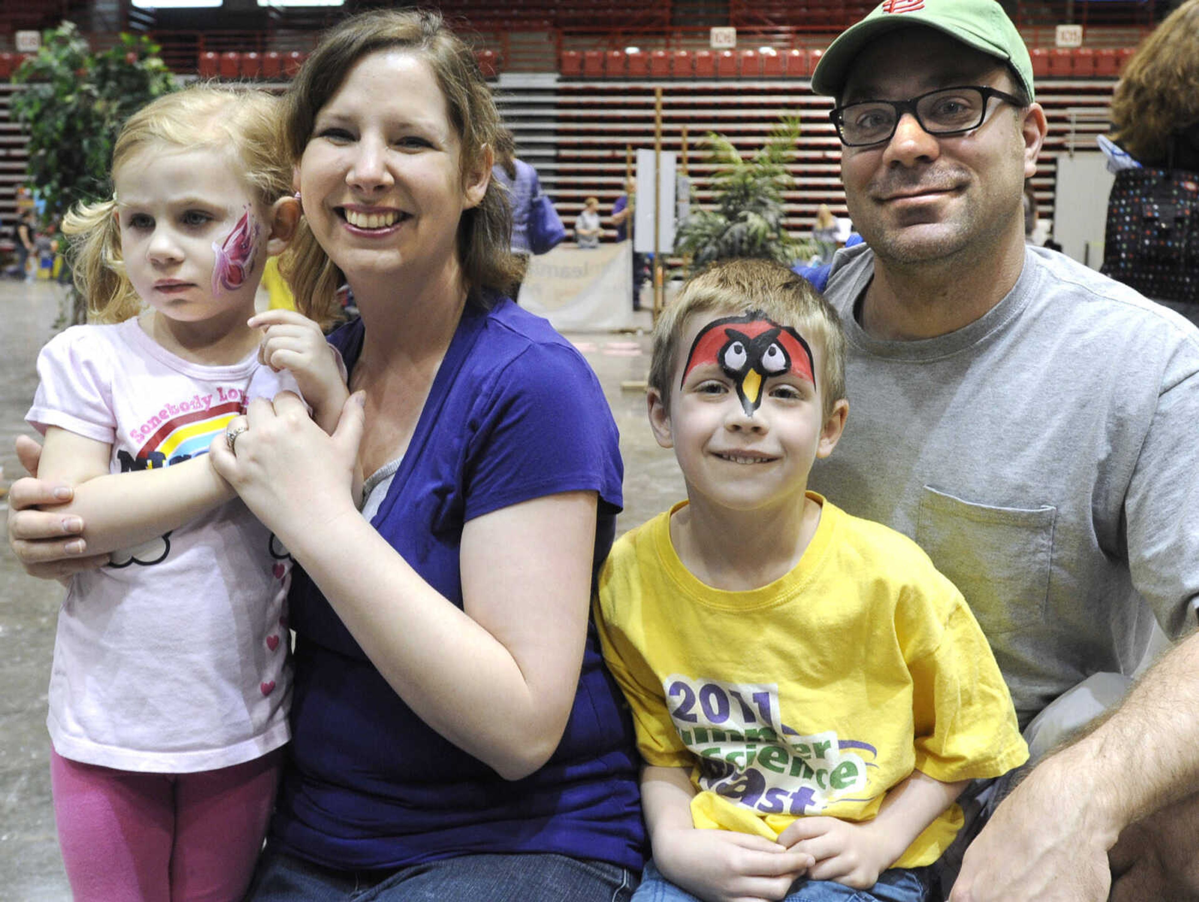
[[[317,113],[296,168],[313,235],[355,279],[456,263],[464,210],[489,168],[463,173],[462,142],[429,66],[399,49],[363,56]]]

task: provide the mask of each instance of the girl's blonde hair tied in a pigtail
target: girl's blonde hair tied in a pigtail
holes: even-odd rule
[[[155,143],[231,154],[251,193],[270,206],[291,192],[282,125],[282,104],[265,91],[194,85],[163,95],[128,118],[113,148],[112,173]],[[80,204],[62,220],[62,231],[79,236],[72,242],[72,269],[91,323],[120,323],[141,309],[121,258],[116,203],[114,196]]]

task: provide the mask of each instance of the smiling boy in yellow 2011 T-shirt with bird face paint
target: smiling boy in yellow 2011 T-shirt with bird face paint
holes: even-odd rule
[[[695,276],[655,330],[650,425],[687,500],[616,542],[596,601],[646,765],[638,902],[924,900],[965,781],[1028,757],[957,589],[807,491],[843,357],[836,313],[764,260]]]

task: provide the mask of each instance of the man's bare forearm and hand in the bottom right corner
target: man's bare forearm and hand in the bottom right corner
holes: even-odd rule
[[[1108,897],[1108,850],[1128,825],[1199,792],[1199,633],[1123,704],[1046,758],[966,850],[951,902]]]

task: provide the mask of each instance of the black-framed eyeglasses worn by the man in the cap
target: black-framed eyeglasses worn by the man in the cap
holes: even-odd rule
[[[899,119],[911,113],[929,134],[960,134],[977,128],[987,118],[987,103],[998,97],[1013,107],[1028,106],[1019,97],[994,88],[964,85],[939,88],[906,101],[858,101],[837,107],[829,119],[846,148],[864,148],[891,140]]]

